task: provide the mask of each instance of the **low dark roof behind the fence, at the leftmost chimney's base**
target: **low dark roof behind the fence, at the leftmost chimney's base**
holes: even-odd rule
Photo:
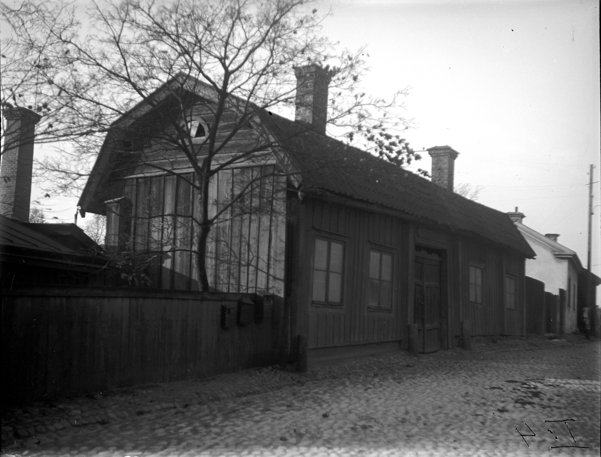
[[[0,253],[4,260],[29,259],[50,262],[56,268],[97,269],[103,264],[102,259],[93,256],[98,248],[75,224],[20,222],[0,215]]]

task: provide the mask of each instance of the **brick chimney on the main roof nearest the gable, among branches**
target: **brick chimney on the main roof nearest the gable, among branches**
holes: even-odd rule
[[[328,86],[332,80],[329,69],[316,64],[294,67],[296,75],[297,122],[311,124],[313,130],[325,135],[328,121]]]

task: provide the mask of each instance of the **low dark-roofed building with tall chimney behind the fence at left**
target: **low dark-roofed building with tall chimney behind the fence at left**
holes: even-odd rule
[[[40,116],[4,109],[5,150],[0,168],[0,279],[2,288],[102,284],[100,247],[75,224],[30,223],[34,127]]]

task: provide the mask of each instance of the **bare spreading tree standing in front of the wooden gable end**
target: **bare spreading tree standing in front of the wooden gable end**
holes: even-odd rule
[[[40,36],[52,43],[50,56],[45,55],[46,38],[25,35],[26,46],[40,50],[42,62],[47,58],[55,65],[37,68],[36,77],[49,87],[47,104],[61,107],[77,132],[110,131],[112,140],[118,140],[115,148],[134,153],[138,163],[157,171],[175,173],[173,164],[185,159],[192,169],[187,180],[197,198],[197,229],[190,235],[197,239],[203,291],[209,289],[206,255],[212,226],[231,215],[266,177],[251,177],[215,214],[209,211],[211,179],[250,157],[271,154],[278,145],[281,139],[269,135],[240,145],[236,135],[248,126],[257,127],[264,110],[291,109],[294,67],[314,63],[328,71],[333,133],[399,165],[419,158],[398,133],[408,125],[400,100],[406,89],[388,102],[367,95],[361,88],[367,70],[362,50],[336,51],[331,41],[320,37],[323,16],[311,2],[108,1],[94,4],[92,31],[83,37],[73,32],[73,16],[67,17],[71,19],[61,22],[36,16]],[[63,26],[56,27],[57,22]],[[204,126],[194,118],[198,103],[206,109]],[[81,182],[87,175],[82,167],[86,153],[97,151],[90,144],[102,139],[79,138],[59,159],[43,164],[45,171],[54,173],[58,190]],[[287,172],[274,170],[279,175]]]

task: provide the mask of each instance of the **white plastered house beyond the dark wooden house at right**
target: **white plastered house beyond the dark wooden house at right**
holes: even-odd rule
[[[536,253],[526,261],[526,276],[544,282],[545,291],[559,297],[555,315],[547,316],[551,333],[572,333],[578,329],[578,277],[583,271],[578,254],[558,243],[559,234],[543,235],[524,225],[526,216],[517,209],[507,214]]]

